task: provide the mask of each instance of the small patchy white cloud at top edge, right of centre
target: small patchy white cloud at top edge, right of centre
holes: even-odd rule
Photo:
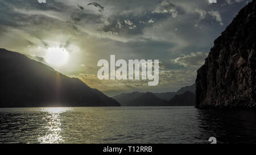
[[[162,14],[172,14],[172,17],[175,18],[178,14],[178,11],[176,9],[176,6],[173,5],[170,2],[167,1],[163,1],[162,3],[160,3],[156,9],[154,11],[152,11],[152,13],[162,13]]]

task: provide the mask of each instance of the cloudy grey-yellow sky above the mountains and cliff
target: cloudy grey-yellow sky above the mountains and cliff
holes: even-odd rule
[[[79,78],[110,97],[132,91],[177,91],[195,83],[214,40],[248,2],[0,0],[0,48]],[[49,60],[52,49],[68,53],[65,63]],[[110,55],[116,60],[159,60],[159,84],[98,79],[97,62],[110,62]]]

